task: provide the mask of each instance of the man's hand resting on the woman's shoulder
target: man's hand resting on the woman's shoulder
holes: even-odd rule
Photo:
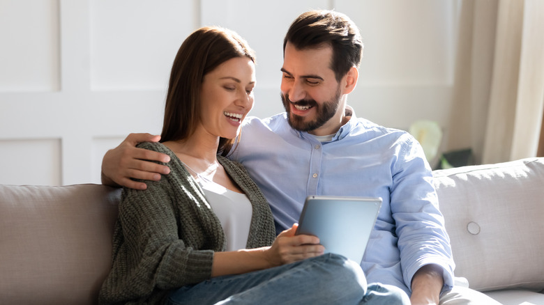
[[[142,142],[158,142],[160,136],[152,134],[129,134],[126,139],[114,149],[108,150],[102,159],[102,183],[104,185],[129,187],[131,189],[146,189],[144,182],[132,180],[160,180],[161,174],[170,172],[168,166],[151,161],[167,163],[170,157],[152,150],[137,148]]]

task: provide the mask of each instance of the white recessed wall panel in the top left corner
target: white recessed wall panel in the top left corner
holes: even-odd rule
[[[1,0],[0,92],[60,90],[59,19],[59,0]]]

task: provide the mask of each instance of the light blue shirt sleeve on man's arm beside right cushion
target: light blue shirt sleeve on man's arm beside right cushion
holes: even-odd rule
[[[396,162],[391,189],[391,212],[396,224],[405,285],[424,265],[443,269],[444,289],[453,287],[451,245],[442,216],[432,173],[423,149],[407,135]]]

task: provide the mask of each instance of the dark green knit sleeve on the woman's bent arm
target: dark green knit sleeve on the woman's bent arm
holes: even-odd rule
[[[148,185],[147,191],[128,190],[119,207],[127,251],[138,262],[138,278],[164,290],[209,279],[213,251],[192,249],[179,239],[172,201],[155,185]]]

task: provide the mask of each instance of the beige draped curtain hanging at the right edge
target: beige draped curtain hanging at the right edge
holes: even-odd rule
[[[476,163],[536,156],[544,109],[544,1],[460,2],[448,149]]]

